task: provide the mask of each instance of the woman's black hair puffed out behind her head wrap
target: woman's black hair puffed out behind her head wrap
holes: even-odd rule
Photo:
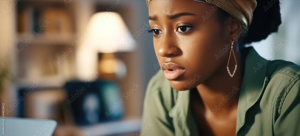
[[[266,39],[269,34],[277,32],[281,24],[279,0],[256,0],[257,6],[253,12],[253,19],[245,36],[238,39],[241,49],[246,44]],[[230,15],[224,10],[219,10],[220,19],[224,20]]]

